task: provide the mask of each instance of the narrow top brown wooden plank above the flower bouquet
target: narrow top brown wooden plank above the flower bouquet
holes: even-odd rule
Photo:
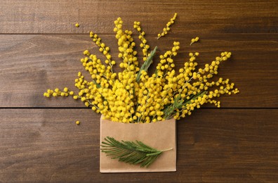
[[[277,9],[276,0],[2,0],[0,33],[110,33],[119,16],[128,27],[141,21],[147,32],[159,33],[173,13],[178,13],[173,31],[180,34],[277,33]]]

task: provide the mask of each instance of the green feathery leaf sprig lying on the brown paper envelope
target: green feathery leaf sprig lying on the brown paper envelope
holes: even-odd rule
[[[140,167],[149,167],[161,153],[171,150],[157,150],[142,141],[117,141],[112,137],[106,137],[100,146],[102,147],[100,150],[107,153],[107,156],[111,156],[112,159],[140,165]]]

